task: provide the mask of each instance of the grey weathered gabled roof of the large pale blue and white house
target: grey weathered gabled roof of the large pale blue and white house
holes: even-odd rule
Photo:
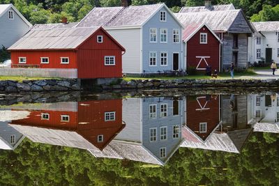
[[[123,27],[123,26],[143,26],[158,10],[165,7],[170,15],[176,19],[172,11],[165,6],[165,3],[158,3],[144,6],[127,7],[104,7],[93,8],[89,14],[77,24],[77,27],[105,26],[105,27]],[[182,26],[182,24],[179,22]]]

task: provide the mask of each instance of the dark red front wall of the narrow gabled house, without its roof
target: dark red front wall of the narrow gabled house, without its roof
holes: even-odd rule
[[[200,33],[207,33],[207,44],[200,44],[199,43],[199,36]],[[211,65],[211,69],[219,71],[219,48],[220,42],[213,36],[211,31],[203,26],[195,35],[190,38],[187,42],[187,67],[197,67],[199,64],[200,59],[196,58],[196,56],[210,56],[209,59],[206,59],[206,62]],[[206,63],[202,61],[199,68],[206,68]]]

